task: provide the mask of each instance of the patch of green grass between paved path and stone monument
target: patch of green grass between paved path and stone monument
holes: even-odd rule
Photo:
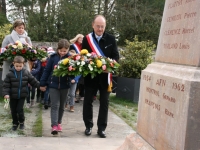
[[[115,95],[110,95],[109,108],[117,116],[123,119],[129,126],[136,130],[138,103],[133,101],[117,98]]]

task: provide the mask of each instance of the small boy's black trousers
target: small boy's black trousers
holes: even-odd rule
[[[18,125],[19,123],[23,123],[25,120],[24,117],[24,102],[25,98],[21,99],[10,99],[10,109],[11,109],[11,115],[13,119],[13,124]]]

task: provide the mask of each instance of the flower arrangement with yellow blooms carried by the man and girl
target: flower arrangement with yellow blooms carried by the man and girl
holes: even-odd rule
[[[103,72],[115,72],[119,64],[110,58],[98,56],[96,53],[88,53],[86,49],[81,50],[80,54],[69,56],[58,62],[54,67],[55,76],[83,75],[91,74],[94,78]]]

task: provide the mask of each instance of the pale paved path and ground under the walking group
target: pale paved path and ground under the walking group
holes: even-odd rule
[[[50,109],[43,110],[43,137],[0,138],[0,150],[115,150],[123,144],[127,135],[135,131],[123,120],[109,111],[107,138],[97,135],[97,114],[99,101],[94,101],[94,127],[91,136],[85,136],[82,120],[82,104],[75,104],[75,112],[65,110],[63,116],[63,132],[51,135]]]

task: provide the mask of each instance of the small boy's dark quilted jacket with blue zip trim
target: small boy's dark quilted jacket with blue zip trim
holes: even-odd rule
[[[33,87],[40,87],[39,81],[28,70],[16,71],[13,67],[3,82],[2,94],[14,99],[25,98],[28,96],[28,83]]]

